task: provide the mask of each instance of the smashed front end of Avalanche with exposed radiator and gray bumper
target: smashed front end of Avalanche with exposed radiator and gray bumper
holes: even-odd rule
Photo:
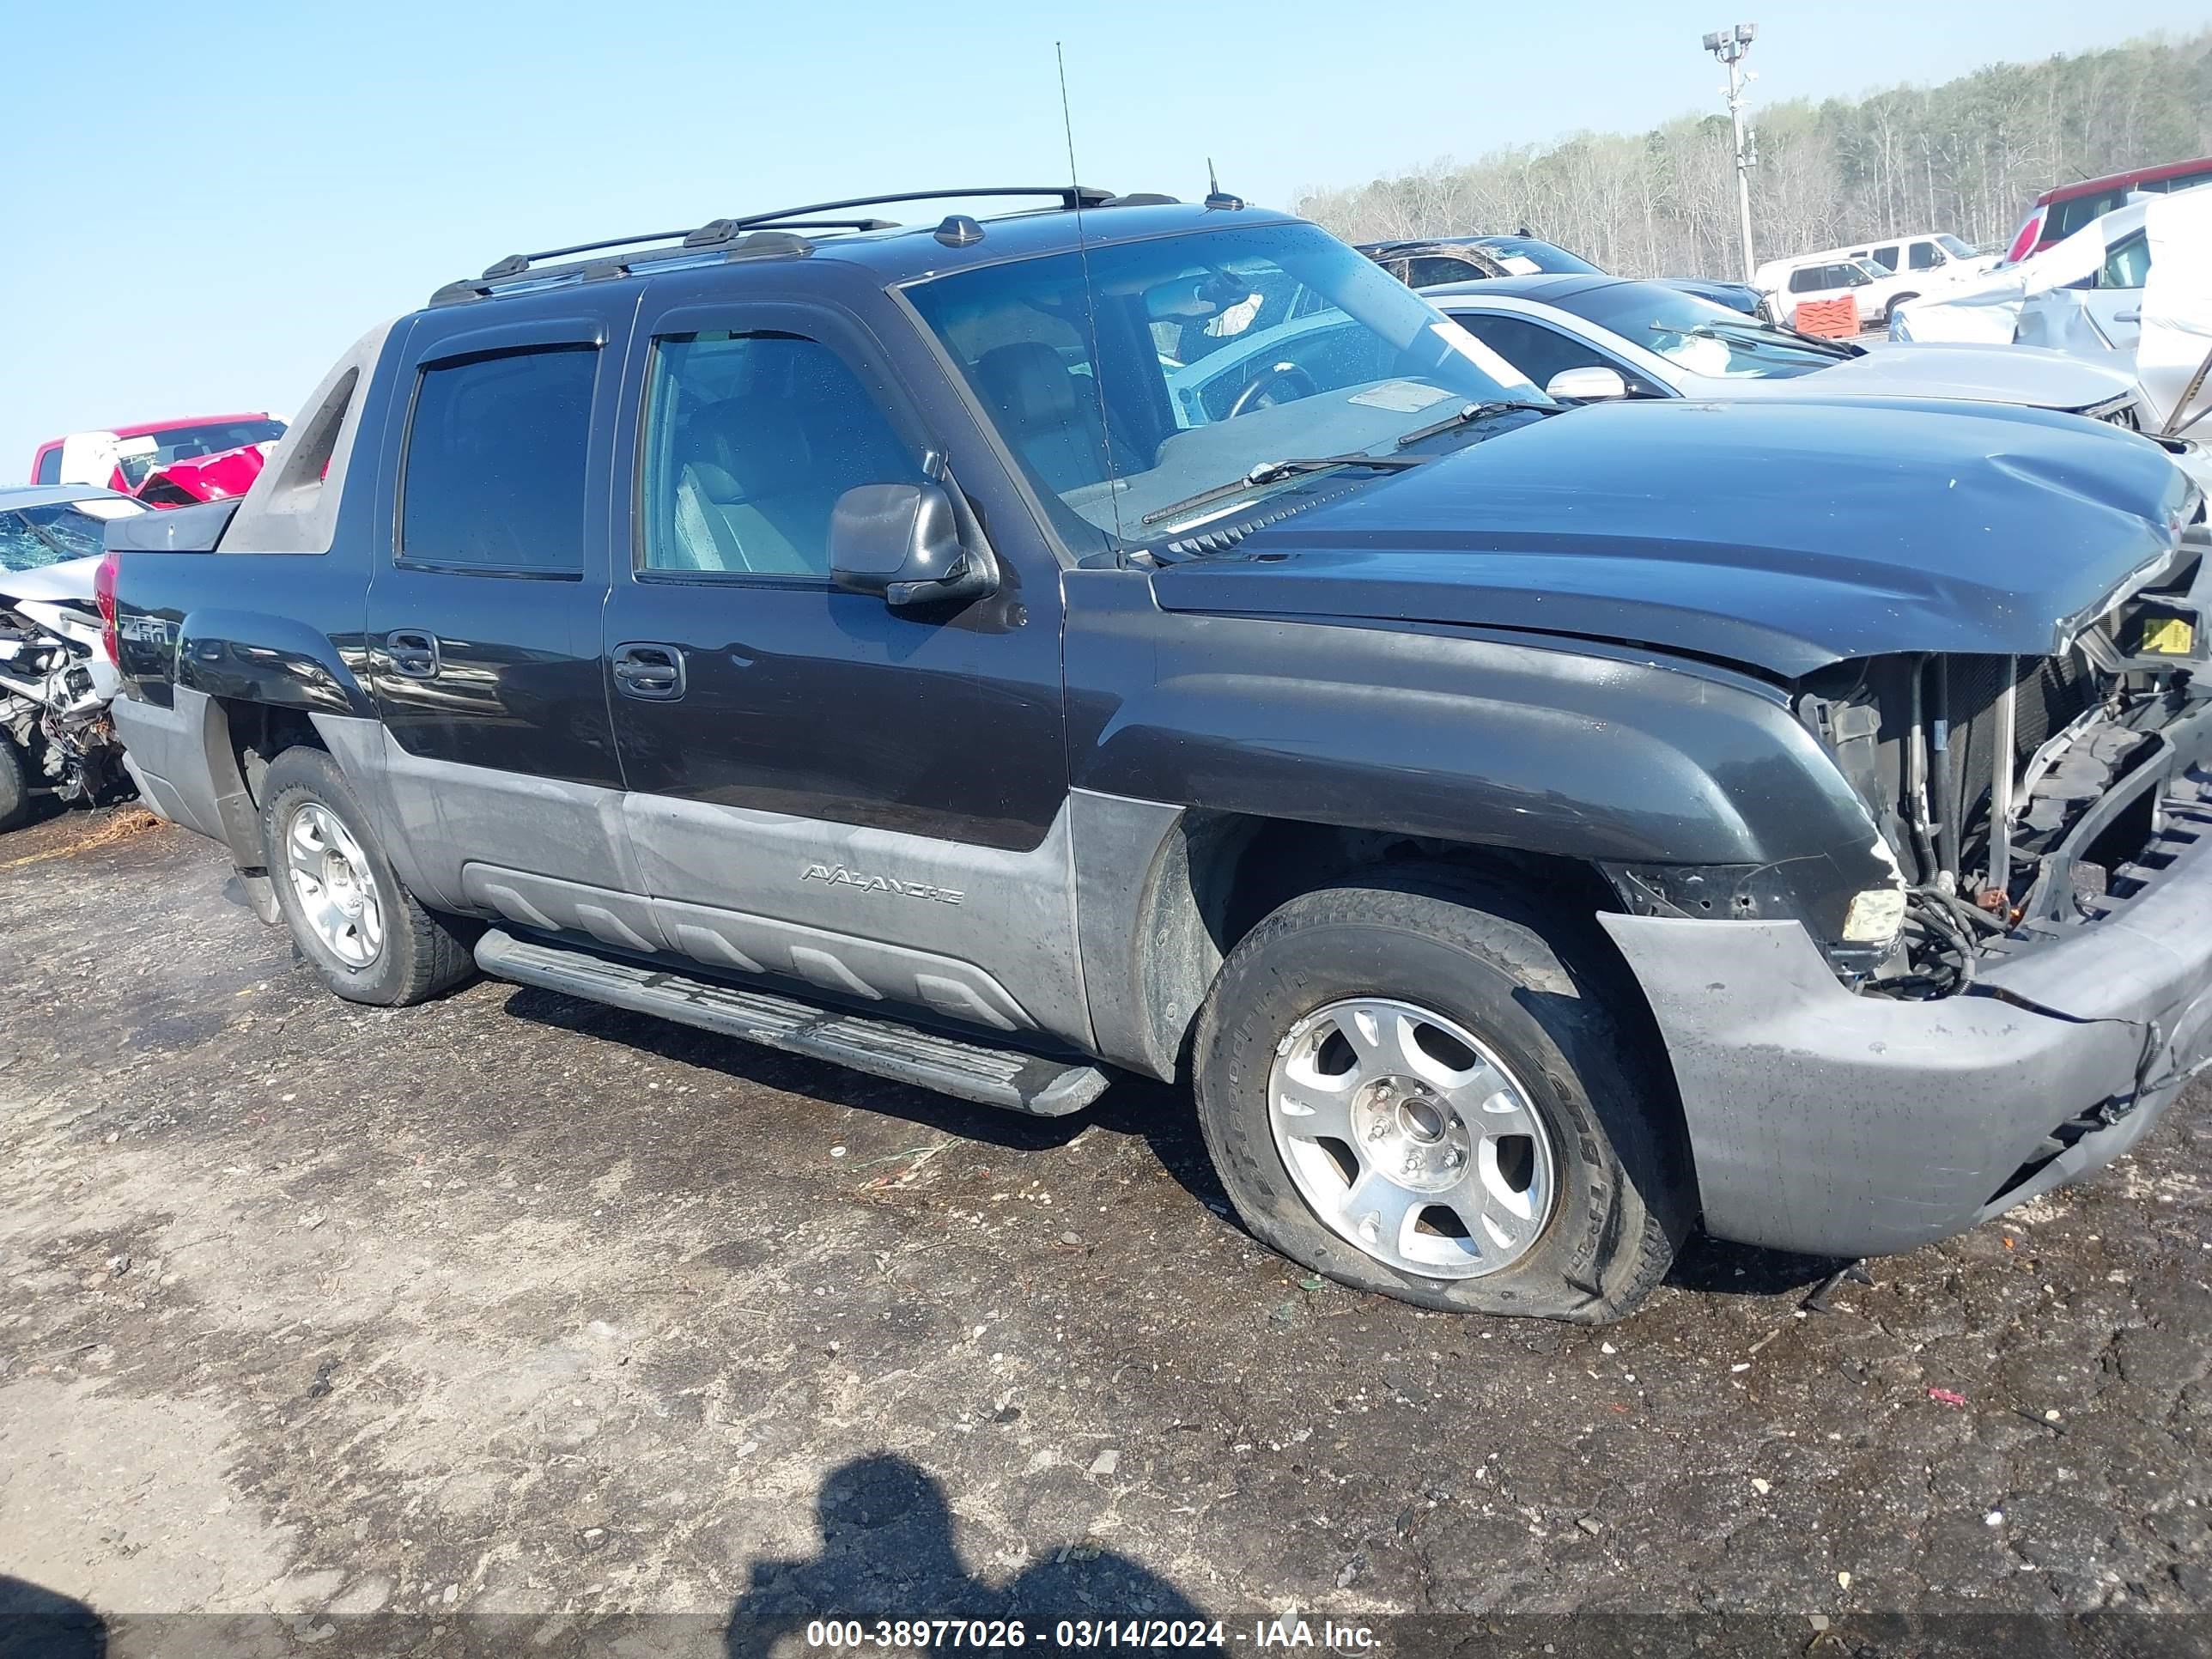
[[[2190,511],[2046,655],[1796,684],[1896,865],[1818,949],[1756,920],[1774,872],[1608,872],[1712,1232],[1834,1256],[1947,1237],[2121,1155],[2212,1064],[2212,535]]]

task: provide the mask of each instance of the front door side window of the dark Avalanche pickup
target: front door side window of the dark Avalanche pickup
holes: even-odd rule
[[[830,575],[830,513],[922,469],[860,376],[799,334],[675,334],[646,389],[641,568]]]

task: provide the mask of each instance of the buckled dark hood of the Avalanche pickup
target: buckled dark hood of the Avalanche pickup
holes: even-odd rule
[[[1290,513],[1152,588],[1168,611],[1582,635],[1794,679],[1891,650],[2064,650],[2197,502],[2150,440],[2039,409],[1590,405]]]

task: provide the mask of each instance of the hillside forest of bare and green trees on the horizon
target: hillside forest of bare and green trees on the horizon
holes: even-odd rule
[[[1750,119],[1761,259],[1913,230],[1997,246],[2055,184],[2212,155],[2212,29],[1863,100],[1754,102]],[[1305,190],[1298,210],[1347,241],[1526,226],[1621,274],[1743,270],[1725,113],[1447,157]]]

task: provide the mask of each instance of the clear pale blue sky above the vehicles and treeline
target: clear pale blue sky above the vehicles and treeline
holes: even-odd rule
[[[82,427],[290,418],[369,323],[518,248],[1060,181],[1055,40],[1086,184],[1192,197],[1212,155],[1223,186],[1287,206],[1717,108],[1699,35],[1739,18],[1759,100],[2192,29],[2212,4],[9,0],[0,480]]]

